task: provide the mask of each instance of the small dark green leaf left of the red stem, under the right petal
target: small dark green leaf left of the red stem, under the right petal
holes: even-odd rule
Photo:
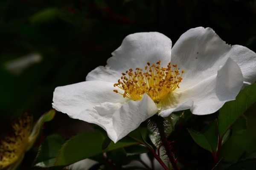
[[[217,120],[204,127],[200,133],[193,129],[188,129],[194,141],[201,147],[214,153],[218,144]]]

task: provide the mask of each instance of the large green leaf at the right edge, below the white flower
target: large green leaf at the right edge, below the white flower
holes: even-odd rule
[[[256,102],[256,83],[247,86],[236,96],[236,100],[225,103],[219,110],[218,130],[222,137],[234,122]]]

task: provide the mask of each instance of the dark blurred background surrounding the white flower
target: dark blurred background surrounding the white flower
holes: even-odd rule
[[[256,0],[1,0],[0,133],[12,116],[29,110],[38,119],[51,109],[55,87],[84,81],[128,34],[158,31],[174,44],[198,26],[256,51]],[[30,54],[40,61],[9,68]],[[67,138],[88,128],[57,113],[44,134]]]

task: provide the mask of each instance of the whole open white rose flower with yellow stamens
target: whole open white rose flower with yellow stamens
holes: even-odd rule
[[[211,28],[190,29],[173,47],[158,32],[131,34],[112,55],[85,82],[55,88],[52,106],[99,125],[113,142],[154,114],[214,113],[256,80],[256,54]]]

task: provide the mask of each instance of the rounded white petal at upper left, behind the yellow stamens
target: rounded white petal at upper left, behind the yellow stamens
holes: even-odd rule
[[[102,80],[117,82],[122,72],[130,68],[144,68],[147,62],[151,64],[161,60],[164,67],[171,60],[172,41],[158,32],[130,34],[122,45],[112,53],[105,67],[99,66],[91,71],[86,80]]]

